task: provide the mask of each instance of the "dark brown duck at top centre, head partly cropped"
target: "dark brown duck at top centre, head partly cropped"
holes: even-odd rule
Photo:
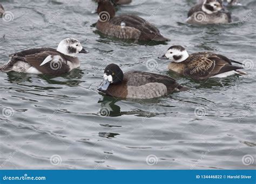
[[[109,0],[98,1],[97,13],[99,20],[96,28],[107,36],[140,41],[170,41],[143,18],[136,15],[115,16],[116,12]]]

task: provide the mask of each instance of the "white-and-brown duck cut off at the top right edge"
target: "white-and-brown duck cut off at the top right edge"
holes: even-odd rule
[[[221,0],[204,0],[193,6],[187,14],[188,24],[231,23],[231,13],[224,9]]]

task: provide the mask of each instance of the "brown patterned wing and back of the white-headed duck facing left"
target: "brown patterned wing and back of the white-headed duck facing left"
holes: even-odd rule
[[[183,74],[196,80],[205,80],[214,75],[242,68],[232,65],[231,60],[226,56],[211,52],[191,54],[186,62],[187,68],[184,69]]]

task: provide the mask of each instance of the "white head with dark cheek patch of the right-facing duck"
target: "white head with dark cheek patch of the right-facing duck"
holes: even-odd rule
[[[66,38],[60,41],[57,51],[75,57],[78,53],[89,53],[86,51],[80,42],[75,38]]]

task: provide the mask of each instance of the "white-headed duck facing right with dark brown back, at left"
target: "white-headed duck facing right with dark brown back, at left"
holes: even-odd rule
[[[9,55],[9,61],[0,67],[1,72],[60,75],[80,66],[78,53],[89,53],[75,38],[60,41],[57,49],[32,48]]]

